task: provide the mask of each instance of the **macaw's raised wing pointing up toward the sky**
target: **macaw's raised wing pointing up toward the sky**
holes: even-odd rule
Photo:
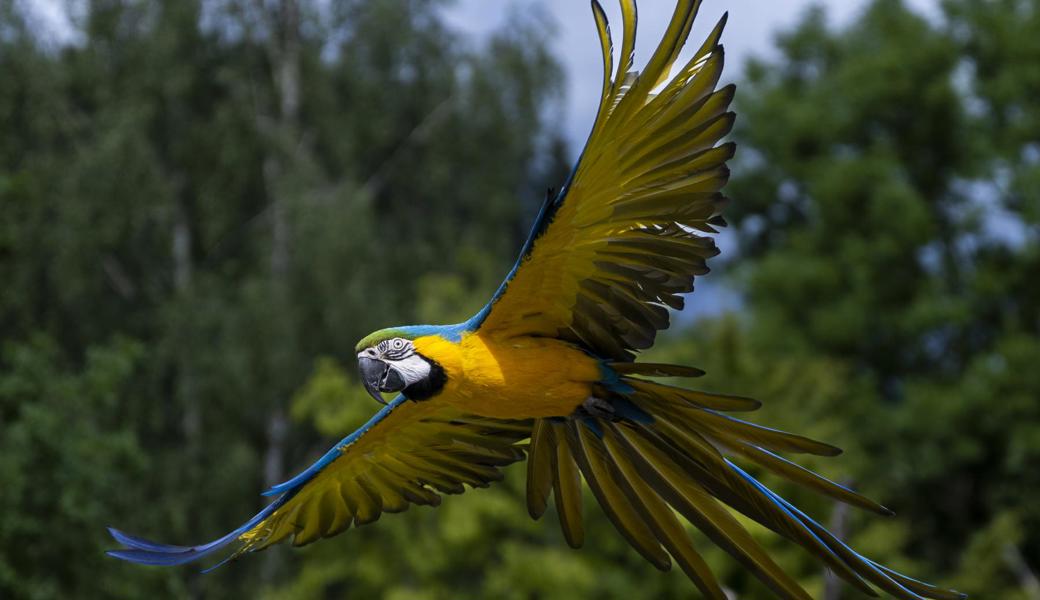
[[[722,73],[719,22],[694,57],[671,75],[700,0],[680,0],[642,73],[625,71],[635,44],[635,2],[621,0],[621,68],[597,0],[603,93],[589,141],[560,193],[547,199],[510,276],[471,327],[488,333],[556,336],[597,355],[630,360],[668,327],[694,276],[718,254],[720,192],[733,145],[733,86]]]

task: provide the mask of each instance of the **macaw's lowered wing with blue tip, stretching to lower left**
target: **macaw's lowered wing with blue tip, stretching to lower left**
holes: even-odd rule
[[[108,553],[145,565],[182,565],[237,544],[229,556],[262,550],[286,538],[303,546],[371,523],[410,504],[440,504],[441,493],[487,487],[499,467],[524,458],[518,442],[529,421],[498,421],[438,402],[398,396],[314,465],[271,488],[277,500],[237,529],[199,546],[156,544],[109,529],[126,546]],[[223,564],[223,563],[220,563]]]

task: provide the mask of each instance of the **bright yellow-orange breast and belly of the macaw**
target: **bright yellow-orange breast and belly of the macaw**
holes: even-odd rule
[[[570,415],[601,377],[595,359],[549,338],[494,340],[467,334],[454,343],[430,336],[416,339],[415,348],[447,373],[444,390],[432,401],[486,417]]]

